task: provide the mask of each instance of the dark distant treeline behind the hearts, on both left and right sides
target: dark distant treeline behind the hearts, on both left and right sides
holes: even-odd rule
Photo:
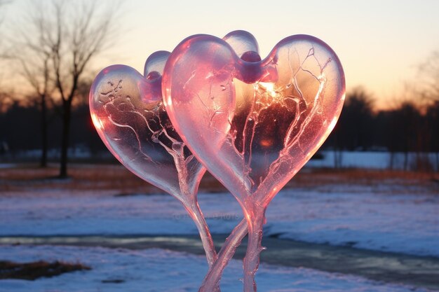
[[[52,108],[48,109],[47,116],[48,148],[59,148],[60,115],[56,108]],[[0,149],[3,148],[3,152],[6,149],[14,153],[41,148],[40,132],[41,112],[37,103],[20,105],[14,102],[0,113]],[[74,107],[70,135],[71,147],[87,148],[91,153],[105,150],[92,125],[86,103]],[[439,101],[431,102],[423,109],[412,102],[401,102],[396,109],[376,112],[370,96],[364,90],[354,90],[346,97],[339,122],[323,148],[439,153]]]

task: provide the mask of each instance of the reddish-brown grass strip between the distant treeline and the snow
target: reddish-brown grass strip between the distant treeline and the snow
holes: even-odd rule
[[[0,194],[22,193],[33,190],[108,191],[121,195],[163,193],[155,186],[142,181],[122,165],[80,165],[69,168],[68,179],[57,179],[58,167],[45,169],[21,165],[0,171]],[[286,188],[319,188],[325,191],[332,186],[359,186],[374,188],[384,193],[435,193],[439,194],[439,174],[431,172],[403,172],[377,169],[303,169],[286,185]],[[227,191],[211,174],[206,173],[200,185],[203,193]]]

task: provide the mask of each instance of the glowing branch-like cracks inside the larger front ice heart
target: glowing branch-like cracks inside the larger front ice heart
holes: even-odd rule
[[[297,146],[303,153],[306,151],[301,144],[301,140],[307,126],[309,123],[311,123],[311,120],[313,120],[316,115],[321,113],[320,107],[322,104],[322,97],[324,95],[326,83],[324,71],[327,67],[327,64],[332,62],[331,58],[327,58],[327,60],[321,64],[315,53],[315,48],[311,46],[306,57],[304,57],[304,60],[300,60],[299,52],[295,48],[288,48],[288,65],[290,67],[291,74],[290,83],[282,88],[276,88],[273,83],[255,83],[252,104],[250,105],[250,110],[245,117],[242,137],[238,136],[238,132],[233,127],[229,132],[229,141],[231,141],[231,145],[234,147],[235,152],[242,159],[243,183],[245,185],[245,181],[250,181],[250,189],[255,186],[255,181],[253,181],[255,178],[252,179],[250,177],[250,173],[252,172],[251,165],[253,159],[255,132],[257,125],[259,124],[259,116],[261,115],[262,111],[269,109],[274,104],[278,104],[287,109],[289,112],[293,113],[294,119],[290,123],[285,134],[283,148],[279,152],[278,158],[271,162],[268,167],[268,172],[266,172],[266,176],[259,177],[259,186],[264,183],[267,177],[276,174],[276,170],[278,167],[280,167],[281,163],[292,160],[292,157],[290,156],[290,151],[292,148]],[[299,66],[297,68],[293,68],[293,62],[291,62],[290,59],[291,54],[295,54],[297,60],[299,60]],[[305,67],[305,62],[311,59],[313,62],[315,62],[313,64],[316,64],[318,67],[318,72],[316,72],[316,74],[313,73],[313,71],[316,70],[311,71],[311,69]],[[309,74],[311,78],[318,82],[318,90],[311,101],[306,100],[305,95],[309,95],[309,93],[304,92],[299,85],[297,76],[300,72]],[[288,95],[286,91],[290,91],[291,86],[294,86],[293,92],[292,94]],[[239,139],[241,139],[241,141],[239,141]],[[242,146],[241,150],[238,150],[238,144]],[[241,148],[241,146],[239,148]],[[245,155],[245,153],[248,153],[248,155]],[[259,188],[259,186],[257,186],[257,188]],[[250,194],[250,189],[246,189]]]

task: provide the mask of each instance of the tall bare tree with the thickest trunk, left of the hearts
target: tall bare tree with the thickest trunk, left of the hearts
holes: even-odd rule
[[[72,104],[90,62],[112,41],[118,7],[100,6],[97,0],[54,0],[45,4],[43,1],[34,3],[32,10],[36,13],[29,24],[37,34],[26,37],[29,48],[40,57],[39,81],[32,78],[27,63],[22,64],[27,80],[41,97],[41,109],[45,109],[50,82],[53,82],[53,95],[60,100],[62,116],[59,176],[67,177]]]

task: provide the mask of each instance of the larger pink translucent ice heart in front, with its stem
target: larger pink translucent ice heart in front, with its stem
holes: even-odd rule
[[[245,291],[256,290],[266,207],[330,134],[345,92],[342,65],[323,41],[289,36],[261,60],[253,40],[242,31],[190,36],[162,81],[177,132],[243,207]]]

